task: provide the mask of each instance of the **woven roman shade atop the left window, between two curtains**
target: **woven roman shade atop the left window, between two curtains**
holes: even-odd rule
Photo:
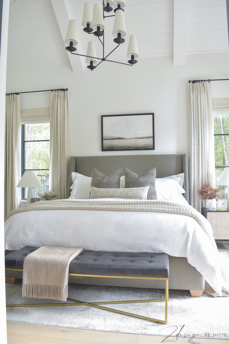
[[[21,109],[21,124],[49,123],[50,108]]]

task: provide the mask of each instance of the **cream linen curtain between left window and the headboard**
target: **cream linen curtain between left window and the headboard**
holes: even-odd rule
[[[51,92],[49,188],[58,199],[68,197],[71,157],[68,91]]]

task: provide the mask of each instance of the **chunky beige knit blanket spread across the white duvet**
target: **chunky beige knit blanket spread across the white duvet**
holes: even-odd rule
[[[204,230],[208,236],[210,243],[217,250],[215,240],[205,227],[202,221],[202,215],[193,207],[189,205],[181,205],[171,201],[159,201],[159,200],[55,200],[55,201],[43,201],[35,202],[31,205],[27,205],[11,211],[5,221],[13,214],[26,212],[31,210],[52,210],[52,209],[66,209],[66,210],[106,210],[106,211],[132,211],[132,212],[157,212],[157,213],[172,213],[181,214],[194,218],[196,222]],[[218,250],[217,250],[218,251]],[[229,297],[229,275],[225,271],[224,264],[221,263],[223,287],[222,296]],[[209,295],[219,296],[216,292],[205,283],[205,292]]]

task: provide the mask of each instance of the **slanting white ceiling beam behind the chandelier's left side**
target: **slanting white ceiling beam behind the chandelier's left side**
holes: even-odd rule
[[[68,28],[68,23],[70,19],[74,19],[71,16],[68,0],[51,0],[53,5],[53,9],[56,15],[56,19],[60,28],[60,32],[62,35],[63,40],[65,41],[65,36]],[[81,54],[79,43],[77,44],[77,54]],[[73,73],[79,73],[84,71],[84,61],[82,56],[72,55],[68,53],[66,50],[66,54],[68,54],[69,61],[72,67]]]

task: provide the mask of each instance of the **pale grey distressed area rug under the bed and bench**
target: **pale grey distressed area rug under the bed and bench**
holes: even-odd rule
[[[61,303],[53,300],[25,299],[22,283],[6,284],[7,304]],[[69,284],[68,297],[87,302],[146,300],[164,298],[161,289],[126,288]],[[165,302],[106,305],[130,313],[164,319]],[[229,339],[229,298],[205,293],[192,298],[187,290],[170,290],[166,325],[108,312],[89,306],[7,308],[7,320],[84,330]],[[169,340],[169,338],[168,338]]]

